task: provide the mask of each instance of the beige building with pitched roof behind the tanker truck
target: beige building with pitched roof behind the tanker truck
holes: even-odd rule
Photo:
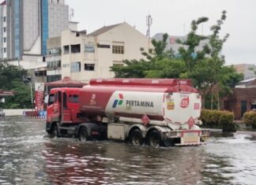
[[[126,22],[105,26],[90,34],[86,31],[62,31],[62,79],[88,82],[92,78],[112,78],[112,65],[123,60],[144,58],[141,48],[149,50],[149,39]]]

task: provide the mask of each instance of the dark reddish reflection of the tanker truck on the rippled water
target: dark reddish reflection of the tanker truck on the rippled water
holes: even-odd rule
[[[70,141],[45,146],[45,168],[52,183],[196,184],[201,179],[201,150],[197,147],[152,149]]]

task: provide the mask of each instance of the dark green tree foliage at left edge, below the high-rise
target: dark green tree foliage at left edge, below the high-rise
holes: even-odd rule
[[[6,103],[1,104],[4,109],[32,108],[30,86],[24,84],[23,77],[27,71],[5,62],[0,63],[0,89],[15,91],[12,97],[6,97]]]

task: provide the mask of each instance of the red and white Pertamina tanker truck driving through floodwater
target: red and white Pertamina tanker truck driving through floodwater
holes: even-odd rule
[[[201,145],[201,95],[190,80],[90,80],[82,88],[51,89],[46,131],[81,141],[112,139],[135,146]]]

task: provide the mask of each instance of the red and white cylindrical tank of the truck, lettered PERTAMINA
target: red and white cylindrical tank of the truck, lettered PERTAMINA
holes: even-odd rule
[[[91,80],[81,89],[80,109],[94,116],[141,118],[184,124],[197,120],[201,97],[190,80]]]

